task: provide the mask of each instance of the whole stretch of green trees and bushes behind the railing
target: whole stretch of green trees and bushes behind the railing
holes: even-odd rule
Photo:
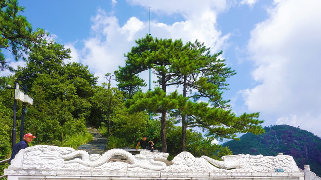
[[[133,148],[145,135],[170,157],[189,151],[220,159],[232,151],[213,144],[214,139],[264,132],[258,112],[237,116],[222,98],[227,79],[236,72],[218,58],[222,52],[213,54],[202,42],[146,35],[125,54],[125,66],[105,72],[107,83],[98,84],[87,66],[69,61],[70,49],[43,29],[31,28],[17,0],[0,0],[0,5],[0,70],[12,72],[0,77],[0,160],[11,154],[15,95],[8,85],[15,84],[33,98],[33,105],[16,104],[16,142],[26,112],[24,133],[37,137],[30,145],[77,148],[92,139],[86,129],[91,125],[109,138],[110,149]],[[5,51],[26,65],[12,68]],[[157,87],[143,92],[146,83],[139,74],[149,69],[157,76]]]

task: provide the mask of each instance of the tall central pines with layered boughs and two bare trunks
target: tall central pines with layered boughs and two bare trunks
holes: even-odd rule
[[[182,149],[185,150],[186,129],[199,126],[210,136],[234,138],[237,132],[252,131],[262,133],[258,113],[236,117],[229,109],[228,102],[222,99],[222,90],[227,90],[226,78],[235,72],[226,67],[218,58],[222,53],[210,55],[204,44],[195,41],[183,45],[181,40],[157,39],[147,35],[136,41],[127,57],[125,67],[119,68],[120,81],[152,69],[157,76],[157,85],[152,93],[136,93],[134,100],[127,100],[133,110],[148,110],[161,114],[162,151],[166,152],[166,115],[177,117],[182,122]],[[164,94],[171,86],[183,86],[183,95]],[[159,90],[163,92],[159,92]],[[187,95],[187,92],[194,92]],[[174,96],[173,96],[174,95]],[[157,98],[160,99],[157,99]],[[144,98],[144,99],[141,99]],[[163,100],[165,103],[156,100]],[[199,100],[208,103],[198,103]],[[212,107],[208,107],[211,105]],[[203,112],[203,113],[202,113]],[[212,116],[208,115],[211,114]],[[221,115],[221,116],[219,116]],[[243,127],[242,127],[243,126]]]

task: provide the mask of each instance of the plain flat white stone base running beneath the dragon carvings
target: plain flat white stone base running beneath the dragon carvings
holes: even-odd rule
[[[8,180],[49,179],[233,179],[233,180],[304,180],[304,172],[159,172],[159,171],[99,171],[99,170],[21,170],[5,169]]]

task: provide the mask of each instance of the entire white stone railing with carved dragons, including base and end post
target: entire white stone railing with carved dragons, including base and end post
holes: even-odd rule
[[[110,162],[121,155],[128,163]],[[75,158],[81,156],[81,158]],[[231,155],[223,161],[182,152],[165,163],[167,153],[141,151],[132,155],[112,149],[103,155],[67,147],[36,145],[19,151],[5,175],[8,180],[34,179],[298,179],[321,180],[306,168],[299,169],[292,156]],[[313,176],[314,174],[314,176]]]

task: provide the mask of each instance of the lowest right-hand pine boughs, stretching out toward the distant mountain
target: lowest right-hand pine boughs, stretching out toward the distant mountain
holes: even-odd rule
[[[172,114],[174,116],[184,114],[187,117],[186,127],[200,127],[206,136],[219,140],[238,139],[237,133],[260,134],[264,132],[259,125],[263,123],[258,119],[259,113],[244,113],[236,116],[231,109],[210,107],[206,102],[187,101],[178,112],[174,111]]]

